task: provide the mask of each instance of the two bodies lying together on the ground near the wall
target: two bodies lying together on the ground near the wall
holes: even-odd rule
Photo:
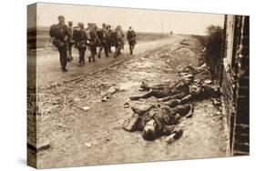
[[[150,86],[142,83],[141,89],[148,93],[131,96],[132,101],[149,97],[156,97],[158,100],[143,110],[131,106],[134,115],[124,122],[124,129],[142,131],[142,137],[146,140],[153,140],[159,136],[179,138],[183,131],[175,130],[175,125],[181,116],[192,112],[192,105],[188,103],[210,96],[220,96],[220,93],[210,85],[196,84],[193,79],[183,79],[174,85]]]

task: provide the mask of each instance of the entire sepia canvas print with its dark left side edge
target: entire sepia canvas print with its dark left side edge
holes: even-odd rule
[[[27,165],[250,155],[250,16],[27,5]]]

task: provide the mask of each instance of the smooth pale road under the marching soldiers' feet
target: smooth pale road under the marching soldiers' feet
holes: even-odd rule
[[[151,42],[141,42],[136,46],[134,51],[134,55],[138,55],[148,50],[154,49],[159,46],[169,45],[171,42],[177,39],[177,37],[166,38],[158,41]],[[55,49],[56,50],[56,49]],[[112,51],[115,48],[112,47]],[[128,54],[128,43],[125,45],[124,50],[122,51],[124,54]],[[73,50],[74,60],[71,63],[67,63],[67,69],[69,72],[62,73],[60,70],[58,52],[50,49],[39,49],[37,51],[36,58],[36,66],[37,66],[37,83],[40,87],[44,87],[47,85],[53,85],[64,80],[68,80],[70,78],[77,77],[79,75],[87,75],[92,72],[96,72],[97,70],[101,70],[104,67],[108,67],[108,65],[115,65],[118,62],[124,61],[124,58],[113,58],[113,53],[110,55],[111,57],[106,58],[104,52],[102,52],[102,56],[100,59],[96,56],[96,63],[88,64],[87,56],[89,55],[89,51],[86,52],[86,65],[82,67],[77,67],[78,62],[78,53],[77,49]],[[128,57],[130,57],[128,55]],[[127,59],[126,59],[127,60]]]

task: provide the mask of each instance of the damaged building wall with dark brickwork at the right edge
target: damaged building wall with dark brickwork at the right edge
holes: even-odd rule
[[[225,15],[221,91],[231,155],[249,154],[249,16]]]

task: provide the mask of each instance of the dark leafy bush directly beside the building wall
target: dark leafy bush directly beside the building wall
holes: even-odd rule
[[[210,66],[210,73],[213,78],[219,78],[222,60],[223,29],[218,25],[210,25],[207,27],[207,35],[208,40],[204,51],[206,64]]]

